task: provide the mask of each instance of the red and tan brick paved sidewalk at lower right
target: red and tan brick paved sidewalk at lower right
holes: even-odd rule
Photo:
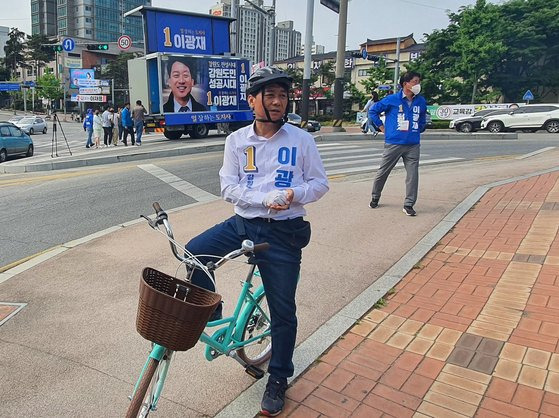
[[[558,229],[559,173],[490,190],[282,416],[559,416]]]

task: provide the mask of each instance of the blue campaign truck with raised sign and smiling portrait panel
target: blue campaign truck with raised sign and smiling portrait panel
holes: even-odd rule
[[[252,123],[246,98],[250,62],[231,56],[231,18],[140,6],[144,56],[128,61],[130,102],[148,111],[146,131],[203,138],[210,129]]]

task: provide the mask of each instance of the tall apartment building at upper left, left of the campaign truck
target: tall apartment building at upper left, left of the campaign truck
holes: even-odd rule
[[[120,35],[143,37],[140,17],[123,17],[151,0],[31,0],[33,34],[116,42]]]

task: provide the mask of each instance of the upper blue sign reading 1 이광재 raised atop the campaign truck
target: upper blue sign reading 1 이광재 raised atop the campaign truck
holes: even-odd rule
[[[230,52],[229,19],[147,10],[146,52],[222,55]]]

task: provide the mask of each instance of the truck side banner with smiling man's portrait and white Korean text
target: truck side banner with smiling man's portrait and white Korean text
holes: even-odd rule
[[[246,97],[251,68],[248,60],[177,55],[163,58],[159,68],[160,113],[250,111]]]

